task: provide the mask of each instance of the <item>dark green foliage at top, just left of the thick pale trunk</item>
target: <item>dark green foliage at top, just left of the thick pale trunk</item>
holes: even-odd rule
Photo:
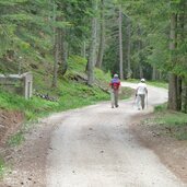
[[[71,26],[62,32],[72,55],[80,55],[83,43],[90,40],[90,19],[93,15],[92,1],[63,0],[58,2],[58,10],[62,12],[62,20]]]

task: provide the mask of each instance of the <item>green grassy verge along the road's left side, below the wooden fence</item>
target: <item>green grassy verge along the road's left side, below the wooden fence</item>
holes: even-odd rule
[[[2,109],[20,110],[24,113],[26,121],[35,120],[54,112],[72,109],[81,106],[92,105],[100,101],[108,101],[109,93],[100,87],[90,87],[85,84],[69,81],[63,82],[56,90],[57,102],[50,102],[37,96],[24,100],[19,95],[0,91],[0,103]]]

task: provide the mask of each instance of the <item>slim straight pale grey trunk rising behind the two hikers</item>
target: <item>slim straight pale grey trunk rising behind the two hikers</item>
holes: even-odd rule
[[[122,60],[122,11],[119,5],[119,73],[120,79],[124,79],[124,60]]]

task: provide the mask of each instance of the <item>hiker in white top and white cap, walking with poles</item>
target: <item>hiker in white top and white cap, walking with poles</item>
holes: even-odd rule
[[[140,108],[144,109],[144,100],[145,100],[145,96],[148,96],[148,89],[144,82],[145,80],[141,79],[141,82],[138,83],[138,86],[136,90],[138,109]]]

